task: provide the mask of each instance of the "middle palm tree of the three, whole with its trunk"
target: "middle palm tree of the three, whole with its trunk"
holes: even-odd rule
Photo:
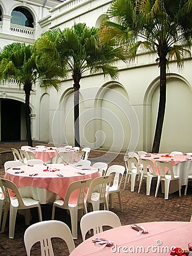
[[[74,144],[80,147],[79,131],[79,90],[80,80],[86,71],[102,73],[115,79],[118,69],[112,64],[126,60],[125,52],[117,47],[114,40],[102,44],[98,28],[89,28],[85,23],[74,24],[71,28],[46,31],[37,41],[37,47],[56,58],[71,72],[74,89]]]

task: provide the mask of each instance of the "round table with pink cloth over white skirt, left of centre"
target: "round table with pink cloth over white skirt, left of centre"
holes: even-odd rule
[[[22,196],[32,197],[41,204],[65,199],[69,185],[77,180],[99,177],[97,168],[75,167],[70,164],[34,164],[20,166],[19,170],[9,168],[5,179],[11,180],[19,188]],[[18,172],[18,173],[16,173]],[[37,174],[35,176],[31,176]],[[58,176],[60,175],[60,176]]]

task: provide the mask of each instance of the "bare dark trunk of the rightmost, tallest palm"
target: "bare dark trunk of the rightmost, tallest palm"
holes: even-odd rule
[[[161,142],[166,105],[166,57],[160,57],[160,98],[152,152],[158,153]]]

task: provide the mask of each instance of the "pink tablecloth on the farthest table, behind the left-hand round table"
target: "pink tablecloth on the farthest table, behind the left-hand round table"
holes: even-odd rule
[[[26,151],[31,151],[35,154],[37,159],[41,159],[44,162],[47,162],[59,152],[69,152],[71,153],[71,157],[73,156],[73,153],[76,152],[77,150],[75,149],[68,149],[64,147],[33,147],[31,149],[27,149]]]

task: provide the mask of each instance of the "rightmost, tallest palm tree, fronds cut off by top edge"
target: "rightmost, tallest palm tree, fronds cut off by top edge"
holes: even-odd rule
[[[166,68],[175,59],[178,68],[190,51],[192,32],[191,0],[115,0],[108,9],[110,20],[101,29],[102,40],[111,38],[127,46],[130,60],[138,49],[158,55],[160,99],[152,152],[158,152],[166,104]]]

